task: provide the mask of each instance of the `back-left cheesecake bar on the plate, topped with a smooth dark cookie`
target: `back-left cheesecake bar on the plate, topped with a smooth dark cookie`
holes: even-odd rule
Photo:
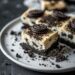
[[[41,17],[43,14],[43,10],[29,8],[22,14],[21,21],[23,24],[27,23],[32,26],[33,24],[35,24],[35,20]]]

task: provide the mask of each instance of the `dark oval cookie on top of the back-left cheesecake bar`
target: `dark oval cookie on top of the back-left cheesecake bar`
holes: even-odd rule
[[[44,11],[42,10],[31,10],[28,13],[28,17],[30,18],[38,18],[44,14]]]

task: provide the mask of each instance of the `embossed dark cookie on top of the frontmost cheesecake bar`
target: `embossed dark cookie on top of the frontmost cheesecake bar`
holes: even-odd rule
[[[45,33],[47,30],[48,28],[44,24],[36,24],[31,27],[31,31],[36,34]]]

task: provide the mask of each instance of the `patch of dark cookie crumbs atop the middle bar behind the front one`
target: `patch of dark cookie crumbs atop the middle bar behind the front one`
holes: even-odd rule
[[[55,26],[57,24],[56,21],[56,18],[52,17],[51,15],[44,16],[41,20],[41,22],[47,23],[49,27]]]

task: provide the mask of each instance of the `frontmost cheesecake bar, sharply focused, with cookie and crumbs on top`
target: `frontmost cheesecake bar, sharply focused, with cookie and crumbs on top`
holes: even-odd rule
[[[22,40],[35,51],[47,51],[58,39],[58,33],[51,31],[44,24],[36,24],[22,31]]]

